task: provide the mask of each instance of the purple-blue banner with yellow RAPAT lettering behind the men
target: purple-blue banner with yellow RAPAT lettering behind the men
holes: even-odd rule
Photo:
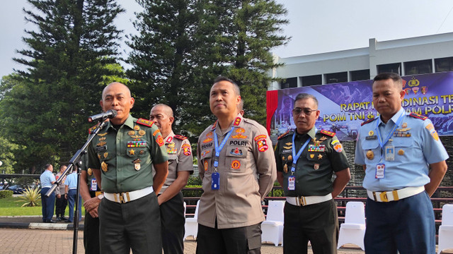
[[[453,72],[402,78],[403,108],[428,116],[439,135],[453,135]],[[333,131],[342,141],[355,140],[360,123],[379,116],[372,102],[372,80],[268,91],[267,128],[274,144],[279,135],[296,127],[292,108],[301,92],[319,101],[316,128]]]

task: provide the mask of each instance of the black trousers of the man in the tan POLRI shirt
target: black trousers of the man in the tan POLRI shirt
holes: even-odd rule
[[[198,224],[197,254],[259,254],[261,223],[232,229]]]

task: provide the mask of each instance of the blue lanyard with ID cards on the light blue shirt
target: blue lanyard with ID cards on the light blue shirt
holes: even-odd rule
[[[395,160],[395,147],[394,145],[391,144],[392,140],[390,138],[391,135],[394,135],[396,128],[398,128],[399,124],[401,123],[405,115],[406,114],[403,111],[403,113],[401,114],[401,116],[398,117],[394,127],[391,128],[390,133],[386,136],[385,139],[382,138],[381,131],[379,130],[379,121],[376,122],[377,140],[379,141],[379,147],[381,148],[381,160],[378,164],[376,164],[376,175],[374,176],[376,179],[385,178],[385,163],[383,162],[384,159],[387,162]]]

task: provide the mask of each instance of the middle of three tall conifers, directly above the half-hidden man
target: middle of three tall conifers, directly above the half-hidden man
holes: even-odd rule
[[[147,117],[154,104],[165,103],[178,119],[193,69],[199,6],[193,0],[137,2],[144,8],[134,22],[139,35],[127,43],[133,49],[127,60],[133,67],[127,75],[134,80],[130,84],[136,98],[134,111]]]

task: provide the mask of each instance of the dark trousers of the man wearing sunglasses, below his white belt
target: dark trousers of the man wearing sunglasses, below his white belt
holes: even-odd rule
[[[283,253],[306,254],[309,241],[314,254],[337,253],[338,214],[335,201],[302,207],[285,203]]]

